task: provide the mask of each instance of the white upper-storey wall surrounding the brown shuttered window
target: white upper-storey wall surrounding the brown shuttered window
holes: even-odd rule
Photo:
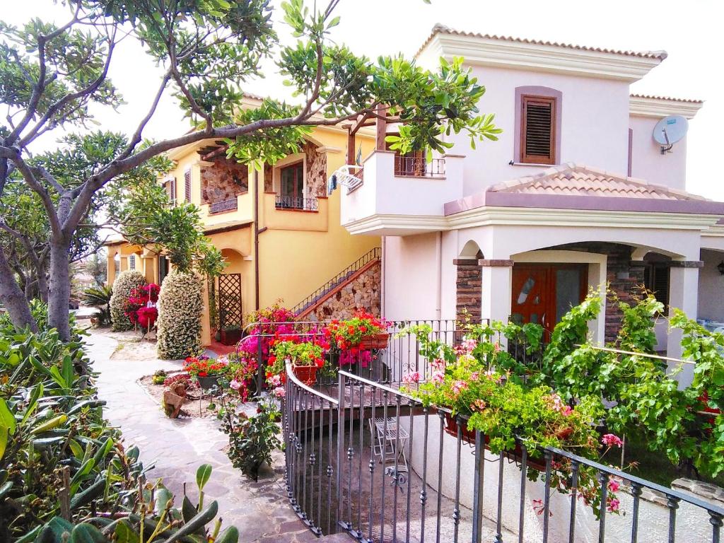
[[[505,68],[473,67],[486,85],[482,112],[494,113],[500,139],[475,150],[468,138],[451,138],[454,153],[466,155],[464,193],[542,172],[548,166],[510,166],[515,148],[515,88],[537,85],[559,90],[561,99],[560,163],[575,161],[610,172],[628,168],[628,83]]]

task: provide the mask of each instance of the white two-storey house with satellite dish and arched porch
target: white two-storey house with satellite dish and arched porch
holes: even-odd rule
[[[667,306],[724,321],[724,203],[686,192],[686,138],[662,146],[660,119],[685,124],[701,101],[631,94],[663,51],[613,51],[463,33],[437,25],[417,53],[463,56],[486,85],[500,140],[427,163],[378,141],[342,188],[342,224],[382,236],[387,319],[538,322],[549,331],[590,288],[622,300],[646,285]],[[682,119],[683,117],[683,119]],[[380,126],[382,125],[382,127]],[[378,121],[378,133],[395,132]],[[378,138],[379,139],[379,138]],[[615,337],[608,304],[592,334]],[[681,353],[657,326],[658,348]]]

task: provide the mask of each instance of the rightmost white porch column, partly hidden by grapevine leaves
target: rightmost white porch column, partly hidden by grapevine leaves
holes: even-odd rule
[[[675,261],[669,276],[669,306],[681,309],[689,319],[696,319],[696,306],[699,302],[699,261]],[[668,334],[666,352],[671,358],[681,358],[681,330]],[[686,386],[691,383],[693,367],[684,366],[678,381]]]

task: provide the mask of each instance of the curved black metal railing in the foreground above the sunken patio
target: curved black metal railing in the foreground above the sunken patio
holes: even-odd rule
[[[450,340],[459,332],[437,329]],[[383,360],[390,361],[384,351],[394,341],[377,351]],[[416,342],[410,345],[415,363],[398,367],[418,371],[424,363]],[[392,367],[386,374],[399,375]],[[483,432],[468,431],[466,420],[445,408],[423,405],[400,390],[399,380],[340,369],[334,386],[310,387],[289,364],[286,378],[287,492],[318,536],[346,532],[359,542],[421,543],[720,542],[724,508],[716,502],[568,451],[529,452],[519,439],[515,451],[493,455]],[[570,465],[563,489],[554,476],[562,463]],[[581,499],[584,469],[595,473],[597,514]],[[620,485],[620,507],[613,508],[618,513],[607,501],[611,481]]]

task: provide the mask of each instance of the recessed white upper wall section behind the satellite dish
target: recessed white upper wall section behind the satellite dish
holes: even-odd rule
[[[656,185],[684,190],[686,187],[686,138],[676,143],[670,153],[661,154],[661,146],[652,133],[659,119],[636,117],[630,119],[631,177]],[[625,170],[624,170],[625,172]]]

